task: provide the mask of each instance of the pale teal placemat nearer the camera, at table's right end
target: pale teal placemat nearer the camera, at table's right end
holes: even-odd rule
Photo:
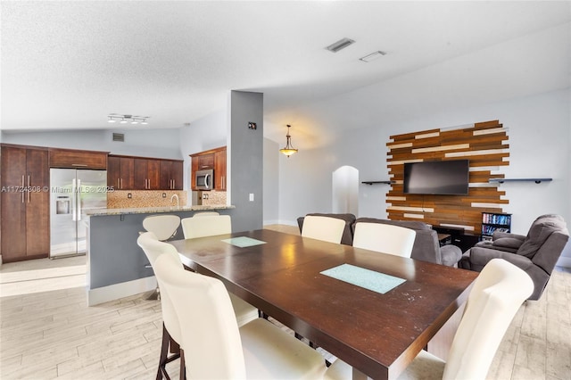
[[[330,268],[324,270],[321,274],[382,294],[385,294],[406,281],[403,278],[355,267],[351,264],[343,264],[335,268]]]

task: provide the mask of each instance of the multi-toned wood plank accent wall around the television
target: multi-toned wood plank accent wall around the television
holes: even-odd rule
[[[393,181],[386,196],[389,219],[463,227],[467,232],[480,234],[482,212],[502,212],[502,205],[509,203],[498,184],[488,183],[490,178],[504,178],[500,169],[509,165],[507,130],[499,120],[459,128],[429,129],[390,138],[386,144],[389,149],[387,167]],[[405,162],[463,159],[470,162],[468,195],[402,193]]]

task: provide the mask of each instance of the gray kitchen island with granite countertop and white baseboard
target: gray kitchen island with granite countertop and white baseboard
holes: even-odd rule
[[[87,305],[92,306],[151,291],[156,287],[153,269],[137,245],[143,219],[160,213],[180,219],[201,211],[231,214],[231,205],[98,209],[87,214]],[[178,239],[183,238],[178,227]]]

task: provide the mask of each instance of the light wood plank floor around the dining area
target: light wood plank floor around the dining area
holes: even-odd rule
[[[84,256],[0,267],[0,379],[154,378],[160,302],[138,294],[87,307],[85,285]],[[178,378],[178,361],[169,372]],[[488,377],[571,378],[571,272],[558,268],[542,299],[521,307]]]

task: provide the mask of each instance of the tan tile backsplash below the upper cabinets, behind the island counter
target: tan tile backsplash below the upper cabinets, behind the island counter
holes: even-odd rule
[[[170,202],[173,194],[178,195],[180,206],[186,206],[186,191],[184,190],[115,190],[112,193],[107,193],[107,208],[130,209],[136,207],[176,206],[176,200],[173,199]]]

